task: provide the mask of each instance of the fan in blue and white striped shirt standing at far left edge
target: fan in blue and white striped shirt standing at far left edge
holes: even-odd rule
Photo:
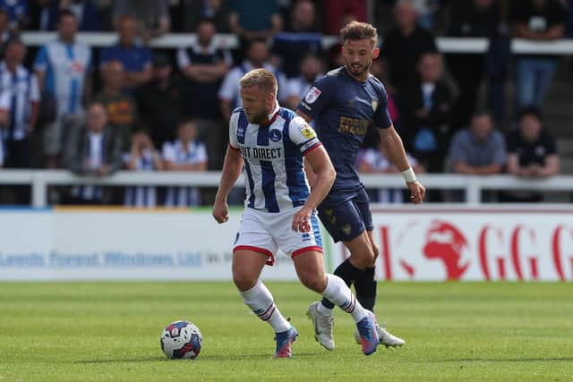
[[[30,133],[38,118],[39,89],[36,74],[23,66],[26,47],[18,39],[6,44],[0,64],[0,91],[8,98],[8,122],[3,136],[6,148],[5,166],[30,167]],[[21,195],[26,203],[27,195]]]

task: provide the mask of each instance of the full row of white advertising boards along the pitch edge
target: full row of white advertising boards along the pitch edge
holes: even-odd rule
[[[0,210],[0,281],[231,280],[240,211]],[[569,208],[387,208],[373,211],[381,280],[573,280]],[[343,246],[323,234],[331,270]],[[263,277],[294,280],[277,256]]]

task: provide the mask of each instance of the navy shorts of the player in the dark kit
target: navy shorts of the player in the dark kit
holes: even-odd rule
[[[364,189],[358,191],[352,199],[342,203],[322,201],[318,208],[322,225],[327,229],[334,242],[347,242],[363,233],[372,231],[372,213],[370,199]]]

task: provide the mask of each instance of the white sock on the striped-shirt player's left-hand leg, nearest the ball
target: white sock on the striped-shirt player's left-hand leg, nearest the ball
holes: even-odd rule
[[[261,283],[261,280],[248,291],[239,291],[239,293],[243,296],[245,305],[251,308],[257,317],[269,322],[276,333],[288,330],[290,323],[280,314],[275,302],[272,300],[272,294],[270,294],[265,284]]]

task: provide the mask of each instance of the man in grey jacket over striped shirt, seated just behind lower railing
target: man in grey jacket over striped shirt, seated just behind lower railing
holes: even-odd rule
[[[106,108],[98,102],[90,104],[86,122],[68,135],[65,166],[81,176],[105,177],[122,167],[121,140],[107,126]],[[106,201],[100,186],[75,186],[70,204],[102,204]]]

